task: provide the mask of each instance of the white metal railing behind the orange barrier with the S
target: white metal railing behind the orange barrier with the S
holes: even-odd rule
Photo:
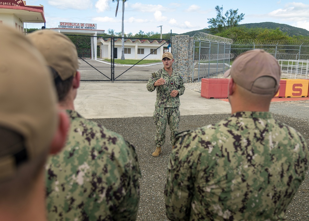
[[[309,60],[278,60],[279,66],[281,67],[281,73],[286,72],[296,77],[300,75],[300,78],[306,78],[309,74]]]

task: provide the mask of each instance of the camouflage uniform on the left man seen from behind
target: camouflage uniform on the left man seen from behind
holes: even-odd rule
[[[134,147],[67,110],[70,132],[46,165],[49,220],[136,220],[141,177]]]

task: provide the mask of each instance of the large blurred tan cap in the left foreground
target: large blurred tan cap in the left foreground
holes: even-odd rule
[[[56,91],[45,59],[22,33],[5,25],[0,25],[0,101],[2,182],[15,175],[17,165],[50,147],[58,124]],[[21,135],[23,143],[9,141],[3,131]]]

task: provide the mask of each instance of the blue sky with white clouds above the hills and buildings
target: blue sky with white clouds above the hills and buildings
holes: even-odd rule
[[[27,5],[43,5],[46,28],[58,28],[60,22],[97,24],[98,30],[113,29],[121,32],[122,2],[117,0],[27,0]],[[156,0],[125,2],[124,32],[147,32],[182,34],[189,31],[208,28],[207,19],[215,18],[215,7],[223,6],[223,11],[238,9],[244,19],[239,24],[275,22],[288,24],[309,31],[309,1],[260,0],[249,3],[248,0],[221,1],[185,1]],[[41,28],[44,24],[27,23],[27,28]]]

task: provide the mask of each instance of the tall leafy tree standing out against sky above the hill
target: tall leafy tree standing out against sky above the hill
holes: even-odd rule
[[[223,6],[219,7],[218,5],[215,7],[215,10],[217,11],[217,17],[207,19],[207,23],[210,24],[208,28],[210,28],[212,34],[237,26],[244,19],[243,16],[245,15],[243,13],[238,15],[238,9],[230,9],[223,15]]]

